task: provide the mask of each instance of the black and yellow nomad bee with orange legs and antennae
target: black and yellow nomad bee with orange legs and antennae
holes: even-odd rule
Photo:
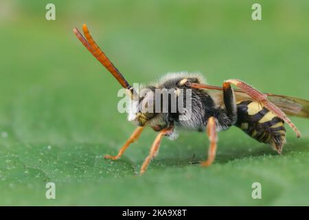
[[[159,132],[150,148],[148,157],[141,166],[141,174],[146,171],[150,161],[157,155],[163,136],[171,138],[175,136],[175,127],[206,131],[210,146],[208,158],[205,162],[201,162],[201,165],[209,166],[214,162],[216,156],[218,131],[225,131],[233,125],[238,126],[258,142],[270,144],[277,153],[281,153],[286,142],[284,123],[295,131],[297,137],[301,135],[287,115],[309,118],[308,100],[264,94],[238,79],[225,80],[222,87],[216,87],[206,84],[199,74],[167,74],[159,80],[159,83],[147,86],[146,96],[141,96],[135,88],[128,84],[124,76],[93,41],[87,25],[83,25],[82,30],[84,36],[76,28],[73,32],[89,52],[128,91],[128,96],[132,101],[128,111],[128,120],[138,124],[137,129],[122,146],[119,153],[115,156],[106,155],[105,158],[119,159],[126,148],[139,138],[145,126],[150,126]],[[239,89],[233,89],[231,85]],[[150,101],[148,103],[153,103],[154,98],[150,95],[154,95],[156,89],[174,89],[171,96],[179,96],[179,91],[190,90],[190,96],[183,95],[182,99],[185,101],[190,99],[191,111],[180,111],[181,109],[178,108],[172,111],[170,106],[165,112],[150,111],[155,109],[157,102],[148,110],[143,111],[141,102]],[[171,100],[168,98],[168,104],[171,104]]]

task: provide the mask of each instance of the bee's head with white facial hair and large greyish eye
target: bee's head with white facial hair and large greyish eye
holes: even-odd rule
[[[150,88],[141,89],[139,94],[130,99],[128,120],[144,126],[155,116],[155,91]]]

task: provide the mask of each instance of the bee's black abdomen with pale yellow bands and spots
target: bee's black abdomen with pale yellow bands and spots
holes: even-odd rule
[[[286,129],[283,120],[264,108],[262,103],[251,100],[238,103],[237,111],[236,126],[255,140],[271,144],[275,151],[281,153],[286,142]]]

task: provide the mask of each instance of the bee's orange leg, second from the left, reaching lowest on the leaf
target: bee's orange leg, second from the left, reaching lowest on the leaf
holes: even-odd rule
[[[164,135],[167,135],[168,133],[172,132],[173,129],[174,129],[174,127],[171,126],[171,127],[163,129],[162,131],[159,131],[159,134],[157,135],[155,141],[153,142],[153,144],[150,148],[150,153],[149,153],[148,157],[146,157],[143,165],[141,165],[141,170],[140,170],[141,175],[143,175],[143,173],[146,171],[150,161],[157,155],[159,148],[160,148],[162,137]]]

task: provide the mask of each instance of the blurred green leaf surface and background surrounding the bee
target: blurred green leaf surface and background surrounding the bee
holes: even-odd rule
[[[56,21],[45,5],[56,5]],[[212,85],[240,78],[262,91],[308,99],[309,2],[0,2],[0,205],[309,205],[308,120],[293,118],[282,155],[240,129],[219,134],[216,162],[204,133],[163,140],[137,175],[156,133],[146,129],[111,162],[135,127],[117,112],[119,85],[72,29],[87,23],[131,83],[201,72]],[[56,199],[45,184],[56,183]],[[252,199],[253,182],[262,199]]]

